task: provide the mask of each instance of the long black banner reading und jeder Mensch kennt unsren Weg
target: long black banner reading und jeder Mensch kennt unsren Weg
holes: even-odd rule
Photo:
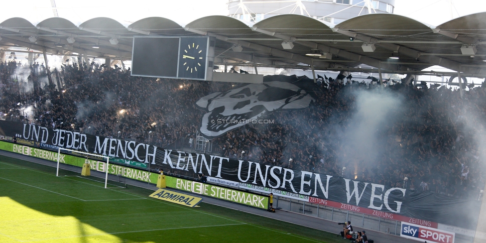
[[[413,223],[424,226],[427,224],[421,222],[474,229],[480,209],[480,202],[471,198],[410,191],[217,155],[172,151],[135,141],[20,122],[0,121],[0,139],[2,137],[6,140],[13,137],[22,139],[37,146],[60,146],[156,164],[164,171],[170,170],[193,177],[197,173],[204,173],[208,175],[208,181],[212,179],[223,181],[227,185],[244,185],[249,190],[277,190],[285,195],[319,204],[331,201],[343,204],[349,210],[366,209],[364,211],[373,212],[378,217],[406,216],[418,219]]]

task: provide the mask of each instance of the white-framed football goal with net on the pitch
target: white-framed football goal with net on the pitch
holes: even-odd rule
[[[56,176],[85,178],[104,183],[105,188],[126,188],[125,178],[122,175],[108,173],[110,157],[67,148],[59,148],[57,153]],[[72,156],[65,156],[67,154]],[[85,168],[89,170],[88,173],[83,171],[83,166],[88,167]]]

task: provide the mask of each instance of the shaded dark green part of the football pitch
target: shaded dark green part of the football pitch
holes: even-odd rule
[[[335,234],[277,221],[224,207],[201,203],[187,208],[149,198],[152,190],[128,186],[110,190],[83,180],[55,177],[55,168],[0,156],[1,197],[53,215],[79,220],[77,230],[89,235],[85,225],[112,234],[120,242],[341,242]],[[0,168],[1,168],[0,164]],[[39,173],[42,172],[42,173]],[[81,181],[77,181],[81,180]],[[104,197],[100,200],[86,200]],[[110,199],[118,198],[117,200]],[[81,224],[82,223],[82,224]],[[76,242],[88,242],[76,238]],[[348,241],[346,241],[348,243]]]

